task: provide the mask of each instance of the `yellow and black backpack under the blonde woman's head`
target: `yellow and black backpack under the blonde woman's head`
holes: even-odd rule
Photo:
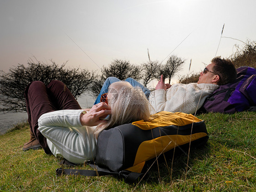
[[[191,114],[161,111],[148,121],[135,121],[103,130],[97,140],[93,170],[57,169],[57,175],[123,176],[134,182],[143,175],[148,160],[165,152],[205,145],[208,140],[205,122]]]

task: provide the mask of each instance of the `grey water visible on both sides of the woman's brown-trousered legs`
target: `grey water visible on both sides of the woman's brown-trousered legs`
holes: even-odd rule
[[[91,108],[95,100],[91,96],[84,95],[79,97],[77,101],[82,108]],[[5,134],[17,123],[26,121],[27,117],[26,112],[0,113],[0,135]]]

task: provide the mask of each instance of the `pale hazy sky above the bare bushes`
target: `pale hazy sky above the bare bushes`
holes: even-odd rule
[[[256,0],[1,0],[0,70],[32,59],[100,71],[114,59],[147,62],[149,51],[151,61],[184,59],[179,75],[200,72],[256,40],[255,8]]]

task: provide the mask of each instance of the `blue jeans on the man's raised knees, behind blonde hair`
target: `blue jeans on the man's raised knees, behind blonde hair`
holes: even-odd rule
[[[116,77],[108,77],[106,79],[106,81],[104,82],[104,84],[101,88],[100,94],[97,96],[97,99],[94,102],[94,105],[96,105],[97,103],[100,103],[101,95],[108,92],[108,87],[110,86],[110,84],[113,83],[113,82],[117,82],[117,81],[121,81],[121,80],[119,80]],[[133,87],[140,87],[142,89],[142,91],[144,92],[145,96],[147,98],[149,97],[150,91],[146,87],[141,85],[138,81],[136,81],[136,80],[134,80],[133,78],[130,78],[130,77],[127,78],[125,81],[129,82]]]

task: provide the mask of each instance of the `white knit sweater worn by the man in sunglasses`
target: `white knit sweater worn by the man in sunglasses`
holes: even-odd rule
[[[166,91],[158,89],[149,96],[151,104],[150,113],[159,111],[195,113],[203,105],[205,98],[213,93],[219,86],[215,84],[181,84],[172,85]]]

